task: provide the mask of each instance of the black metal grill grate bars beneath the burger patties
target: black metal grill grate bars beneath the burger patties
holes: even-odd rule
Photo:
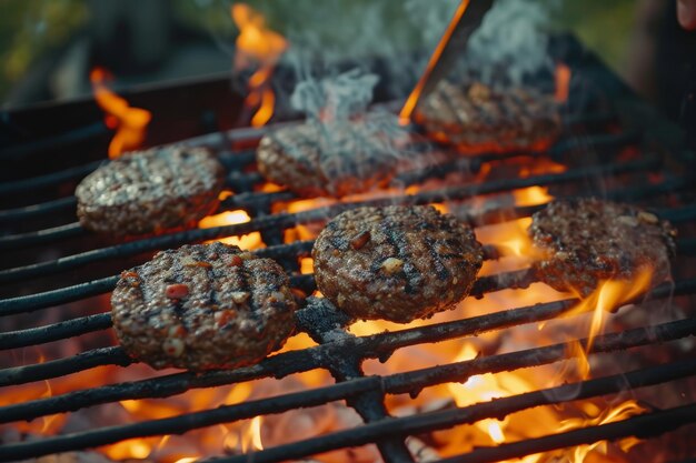
[[[583,54],[583,66],[593,68],[590,66],[593,63],[588,62],[588,59]],[[601,76],[607,74],[604,68],[600,70],[604,72]],[[511,208],[496,204],[493,200],[495,207],[480,210],[469,208],[466,201],[539,185],[557,187],[559,193],[555,194],[556,197],[584,195],[595,193],[597,184],[606,183],[609,187],[603,188],[603,195],[622,201],[650,203],[654,205],[650,210],[662,219],[679,224],[684,230],[693,230],[694,222],[696,222],[696,205],[689,202],[694,194],[693,179],[688,175],[689,167],[678,163],[678,160],[682,159],[680,155],[677,153],[672,155],[672,151],[667,151],[656,143],[649,133],[646,135],[640,130],[632,129],[627,122],[632,121],[626,121],[623,117],[619,118],[618,111],[607,111],[606,109],[593,108],[591,112],[569,114],[565,118],[565,135],[548,152],[543,154],[545,159],[564,164],[570,164],[569,161],[573,161],[578,154],[585,155],[587,153],[591,153],[606,162],[576,165],[561,173],[476,181],[435,190],[420,190],[410,195],[335,203],[297,213],[271,213],[274,204],[296,199],[292,193],[255,191],[255,185],[261,182],[261,179],[258,173],[249,171],[253,163],[253,152],[247,148],[258,141],[265,129],[233,130],[222,134],[187,140],[183,143],[207,145],[220,153],[220,159],[228,170],[227,184],[238,192],[222,201],[220,212],[242,209],[252,218],[249,222],[191,230],[122,244],[90,248],[89,250],[81,249],[66,256],[43,260],[39,263],[26,263],[20,260],[18,263],[12,263],[10,268],[0,271],[0,285],[11,291],[13,285],[31,283],[32,291],[28,295],[10,293],[6,299],[0,300],[0,323],[6,320],[4,318],[12,315],[20,316],[39,311],[43,313],[48,309],[61,310],[63,308],[57,308],[57,305],[110,292],[115,288],[118,276],[95,280],[91,273],[86,272],[91,269],[90,265],[120,264],[128,259],[142,261],[146,259],[146,254],[155,250],[255,231],[260,231],[264,241],[269,245],[255,252],[278,260],[286,270],[294,273],[291,276],[292,286],[309,294],[315,289],[314,278],[310,274],[299,274],[298,260],[309,255],[314,243],[299,241],[282,244],[282,231],[297,224],[322,222],[347,208],[354,208],[358,204],[425,204],[451,201],[463,204],[457,210],[457,215],[461,220],[481,227],[529,217],[539,207]],[[647,125],[645,121],[644,124]],[[617,125],[623,128],[618,130]],[[590,130],[591,133],[585,134],[584,132],[587,130]],[[581,134],[580,138],[576,137],[578,133]],[[241,151],[230,151],[230,145],[247,148]],[[41,149],[41,143],[19,147],[11,154],[14,157],[17,152],[23,153],[27,150]],[[628,158],[616,155],[617,152],[627,150],[637,151],[638,155],[629,155]],[[395,182],[400,187],[421,184],[451,172],[470,174],[473,178],[483,169],[491,165],[495,168],[511,162],[524,163],[529,158],[529,153],[520,152],[457,159],[417,172],[404,173]],[[677,168],[674,167],[675,163],[677,163]],[[98,163],[92,162],[28,180],[7,182],[0,185],[0,194],[11,197],[32,189],[49,188],[66,181],[78,180],[97,165]],[[617,187],[615,184],[617,179],[623,179],[625,182]],[[53,198],[34,205],[22,205],[0,211],[0,224],[41,218],[47,213],[64,214],[66,218],[70,218],[73,209],[74,199],[72,197]],[[0,236],[0,249],[26,258],[36,250],[43,249],[43,246],[60,248],[64,242],[87,236],[88,233],[79,224],[67,223],[47,229],[6,234]],[[498,249],[494,245],[487,245],[485,254],[487,260],[499,258]],[[680,260],[696,255],[696,240],[688,235],[680,238],[678,255]],[[76,272],[78,278],[82,280],[77,284],[63,285],[61,276],[68,271]],[[481,298],[488,293],[509,289],[524,290],[535,282],[535,276],[528,270],[480,276],[475,283],[471,296]],[[34,290],[34,284],[40,289]],[[634,302],[638,310],[640,308],[647,310],[645,308],[652,301],[672,301],[679,298],[683,300],[694,294],[696,294],[694,275],[677,275],[676,281],[652,290],[647,299],[639,299]],[[579,345],[587,348],[590,342],[588,339],[571,339],[551,345],[490,354],[473,360],[379,376],[366,376],[361,370],[362,361],[378,359],[384,362],[395,351],[407,346],[475,336],[486,332],[504,332],[559,316],[577,316],[595,309],[586,306],[580,312],[577,310],[578,302],[577,299],[563,299],[419,328],[356,336],[347,331],[349,320],[346,319],[346,315],[326,304],[324,300],[310,296],[306,308],[298,311],[297,322],[299,330],[309,334],[317,342],[317,346],[278,353],[257,365],[233,371],[212,371],[200,374],[181,372],[131,382],[99,386],[87,385],[84,389],[49,397],[8,404],[0,406],[0,423],[30,421],[117,401],[170,397],[195,389],[230,385],[261,378],[281,379],[294,373],[316,369],[329,371],[335,378],[336,384],[235,405],[223,405],[212,410],[183,413],[167,419],[98,427],[72,434],[42,436],[37,440],[4,444],[0,447],[0,461],[84,450],[132,437],[180,434],[257,415],[282,413],[299,407],[317,406],[345,400],[361,415],[365,424],[258,451],[252,456],[253,461],[279,462],[289,459],[302,459],[330,450],[372,443],[377,444],[386,462],[414,462],[415,460],[405,442],[409,435],[471,424],[489,417],[504,419],[511,413],[535,406],[563,404],[569,401],[617,394],[627,387],[649,387],[696,375],[695,360],[673,360],[664,364],[511,395],[466,407],[451,407],[410,416],[392,417],[385,405],[387,395],[408,393],[416,396],[422,389],[448,382],[464,382],[477,374],[516,371],[561,362],[579,355],[570,349],[571,345],[579,343]],[[693,310],[690,310],[690,314],[693,314]],[[110,314],[107,312],[68,318],[53,324],[4,331],[0,333],[0,350],[8,351],[68,340],[73,336],[108,330],[110,326]],[[687,312],[687,315],[677,320],[599,335],[591,341],[588,354],[593,358],[606,356],[632,348],[654,346],[658,343],[684,340],[694,335],[696,335],[696,318],[689,318]],[[0,370],[0,386],[58,379],[100,365],[129,366],[132,363],[135,361],[129,359],[119,346],[92,349],[74,356],[49,360],[43,363],[12,365]],[[481,447],[466,455],[443,461],[489,462],[594,443],[600,440],[616,440],[632,435],[648,439],[693,422],[696,422],[696,404],[680,404],[665,410],[650,410],[642,415],[616,423],[588,426],[521,442],[500,444],[495,447]],[[219,461],[248,462],[249,459],[249,455],[235,455],[222,457]]]

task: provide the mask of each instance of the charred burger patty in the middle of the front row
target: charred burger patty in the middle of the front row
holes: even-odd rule
[[[358,208],[312,250],[321,293],[351,316],[407,323],[451,308],[483,262],[474,231],[432,207]]]

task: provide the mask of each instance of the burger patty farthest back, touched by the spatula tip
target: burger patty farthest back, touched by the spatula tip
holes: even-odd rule
[[[553,97],[534,89],[499,91],[481,83],[439,82],[414,120],[435,140],[469,154],[544,151],[560,131]]]

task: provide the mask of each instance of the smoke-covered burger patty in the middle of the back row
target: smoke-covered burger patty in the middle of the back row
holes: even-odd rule
[[[367,121],[304,123],[265,135],[257,149],[264,177],[302,197],[345,197],[385,187],[394,177],[399,137]]]

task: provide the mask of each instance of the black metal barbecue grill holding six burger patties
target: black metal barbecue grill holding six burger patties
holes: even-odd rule
[[[626,390],[638,391],[669,383],[688,384],[689,379],[696,375],[696,359],[693,354],[679,354],[679,351],[672,346],[673,341],[688,340],[696,334],[693,298],[696,294],[696,275],[689,269],[696,251],[696,240],[689,234],[694,232],[696,224],[696,207],[693,204],[696,194],[693,183],[696,165],[694,154],[684,149],[678,138],[674,137],[678,131],[633,95],[573,38],[566,36],[555,38],[550,54],[555,60],[563,61],[571,68],[574,85],[564,110],[564,134],[548,151],[539,154],[514,152],[458,158],[419,171],[402,173],[395,180],[402,188],[422,185],[457,172],[466,179],[466,182],[453,183],[444,180],[436,188],[422,188],[411,194],[336,202],[294,213],[277,212],[278,204],[296,198],[289,191],[266,192],[258,188],[264,181],[253,170],[252,147],[266,131],[278,124],[261,129],[233,129],[177,140],[188,145],[209,147],[219,154],[228,170],[227,187],[235,191],[233,195],[222,201],[220,211],[243,210],[251,218],[245,223],[197,229],[116,244],[107,243],[83,231],[78,223],[73,223],[76,200],[70,191],[66,191],[66,188],[73,185],[101,162],[81,157],[77,151],[77,147],[86,141],[108,135],[101,123],[95,122],[69,133],[42,134],[42,139],[38,141],[22,140],[9,145],[7,150],[3,149],[4,153],[1,154],[3,161],[10,164],[13,174],[21,175],[21,180],[6,181],[0,187],[4,205],[4,210],[0,211],[3,230],[0,248],[6,255],[3,269],[0,271],[0,291],[3,295],[0,300],[0,323],[3,326],[3,332],[0,333],[0,349],[11,352],[11,355],[4,355],[2,361],[0,394],[2,390],[16,390],[12,386],[61,379],[100,365],[132,368],[135,361],[118,345],[88,348],[76,354],[36,363],[26,363],[20,348],[66,342],[95,332],[107,333],[105,330],[111,326],[108,312],[97,311],[98,313],[86,315],[84,313],[91,313],[93,310],[77,313],[72,309],[67,312],[67,308],[72,308],[76,303],[82,308],[88,304],[97,305],[98,300],[89,298],[108,294],[118,280],[118,276],[103,275],[113,275],[135,263],[142,263],[156,250],[260,232],[267,248],[255,252],[278,260],[288,272],[291,272],[294,288],[308,295],[315,290],[314,279],[311,274],[299,272],[299,262],[301,258],[309,255],[312,242],[285,243],[284,231],[287,229],[298,224],[321,223],[340,211],[358,204],[443,202],[451,204],[450,210],[459,219],[476,227],[484,227],[526,218],[540,209],[540,205],[509,207],[497,201],[504,193],[527,187],[548,187],[557,198],[596,195],[601,191],[605,198],[639,203],[660,219],[669,220],[679,228],[674,282],[664,283],[649,291],[647,295],[636,298],[634,311],[648,310],[655,301],[668,301],[665,303],[682,308],[683,316],[598,335],[589,348],[591,359],[615,358],[620,362],[618,360],[620,352],[648,346],[656,352],[665,352],[666,356],[663,359],[668,360],[466,407],[450,406],[395,416],[386,406],[385,397],[388,395],[416,396],[426,387],[447,382],[464,382],[476,374],[516,371],[563,362],[579,355],[570,349],[574,343],[579,342],[580,345],[587,346],[589,340],[568,339],[561,343],[485,354],[471,360],[388,375],[364,373],[365,360],[378,359],[387,362],[395,351],[411,345],[470,338],[485,332],[514,332],[524,325],[559,316],[576,316],[578,299],[559,299],[360,336],[350,333],[348,330],[350,320],[345,314],[324,299],[309,296],[306,305],[297,312],[297,323],[298,329],[309,334],[317,343],[316,346],[281,352],[257,365],[232,371],[200,374],[177,372],[126,382],[83,384],[80,389],[51,396],[2,405],[0,422],[18,423],[53,414],[69,415],[118,401],[171,397],[193,389],[213,389],[261,378],[282,379],[312,370],[328,371],[336,380],[335,384],[169,417],[60,432],[56,435],[33,435],[31,439],[4,443],[0,446],[0,460],[23,460],[68,451],[84,451],[133,437],[182,434],[259,415],[346,401],[357,411],[364,424],[264,450],[253,450],[252,454],[218,455],[220,457],[218,461],[294,461],[336,449],[376,444],[385,462],[415,462],[418,461],[418,456],[409,451],[406,443],[408,436],[422,436],[484,419],[503,420],[515,412],[536,406],[615,396]],[[539,78],[537,83],[545,85],[547,82]],[[54,113],[56,108],[34,111],[38,118],[42,111]],[[10,121],[13,120],[11,113],[6,115]],[[436,147],[436,149],[448,148]],[[47,151],[57,150],[68,160],[71,165],[69,169],[52,165],[43,171],[43,168],[32,167]],[[515,170],[515,175],[510,175],[505,169],[509,164],[524,165],[540,158],[553,160],[566,169],[563,172],[530,173],[527,177],[518,177]],[[501,173],[480,180],[479,174],[488,169],[499,170]],[[43,199],[40,202],[27,204],[27,201],[41,198],[42,194]],[[485,200],[487,207],[471,207],[473,199]],[[495,245],[485,248],[487,260],[498,259],[499,253]],[[509,289],[525,290],[535,282],[534,274],[528,270],[485,275],[476,281],[471,298],[481,298]],[[106,306],[101,305],[100,310],[105,309]],[[594,306],[586,309],[591,310]],[[53,322],[37,324],[37,320],[48,320],[41,316],[49,312],[54,313]],[[494,462],[628,436],[654,440],[663,434],[675,434],[676,439],[679,439],[679,429],[688,430],[684,426],[694,422],[696,422],[696,402],[693,394],[692,396],[687,394],[674,406],[652,409],[618,422],[479,447],[441,461]],[[690,430],[694,430],[693,424]],[[696,454],[683,453],[673,457],[696,457]]]

